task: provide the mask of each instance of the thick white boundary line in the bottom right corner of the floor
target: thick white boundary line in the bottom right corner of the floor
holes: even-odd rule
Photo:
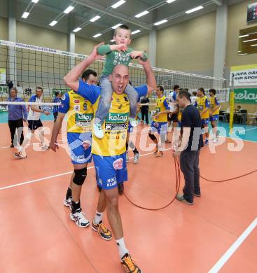
[[[212,267],[208,273],[217,273],[223,265],[225,265],[225,262],[228,261],[228,259],[232,256],[232,254],[239,248],[239,246],[243,243],[243,241],[246,239],[246,237],[256,228],[257,226],[257,218],[249,225],[246,230],[242,233],[242,235],[239,236],[239,238],[235,241],[230,248],[228,248],[228,251],[224,253],[224,255],[216,262],[214,267]]]

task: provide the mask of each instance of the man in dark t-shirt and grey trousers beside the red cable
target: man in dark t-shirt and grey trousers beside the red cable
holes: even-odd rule
[[[179,107],[183,108],[181,116],[180,144],[173,153],[173,157],[180,156],[180,166],[185,178],[183,194],[176,195],[176,199],[193,205],[194,197],[200,197],[199,155],[203,146],[200,113],[190,102],[187,90],[179,91],[177,97]]]

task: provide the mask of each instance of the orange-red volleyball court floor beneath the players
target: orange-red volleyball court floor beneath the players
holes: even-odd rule
[[[51,128],[53,122],[43,125]],[[8,148],[8,125],[0,128],[0,272],[123,272],[114,239],[104,241],[91,228],[78,228],[62,203],[73,172],[66,141],[57,153],[36,152],[39,141],[34,138],[27,159],[18,160]],[[250,141],[221,137],[222,145],[202,148],[201,176],[220,181],[256,169],[257,142],[252,139],[257,139],[257,127],[249,129],[244,138]],[[62,135],[65,127],[60,139]],[[163,207],[176,190],[171,146],[166,145],[164,157],[154,158],[145,128],[139,126],[132,138],[141,156],[139,164],[131,159],[127,165],[125,193],[142,207]],[[243,147],[229,151],[233,145]],[[125,243],[144,273],[257,272],[257,172],[200,183],[202,196],[195,197],[193,206],[175,200],[166,209],[147,211],[120,197]],[[91,163],[81,194],[90,221],[98,195]],[[106,214],[104,221],[109,226]]]

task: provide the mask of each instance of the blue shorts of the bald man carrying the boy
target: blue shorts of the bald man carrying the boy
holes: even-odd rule
[[[116,156],[92,155],[97,174],[97,185],[104,190],[118,187],[127,181],[126,153]]]

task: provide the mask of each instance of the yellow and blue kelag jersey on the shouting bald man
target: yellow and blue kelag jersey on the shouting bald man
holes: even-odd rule
[[[147,94],[147,85],[134,87],[139,97]],[[79,81],[78,94],[87,99],[97,109],[101,87],[88,85]],[[104,138],[97,139],[92,135],[92,153],[102,156],[121,155],[126,151],[127,125],[130,116],[130,101],[127,94],[113,92],[111,107],[104,120]],[[167,115],[166,115],[167,116]]]

